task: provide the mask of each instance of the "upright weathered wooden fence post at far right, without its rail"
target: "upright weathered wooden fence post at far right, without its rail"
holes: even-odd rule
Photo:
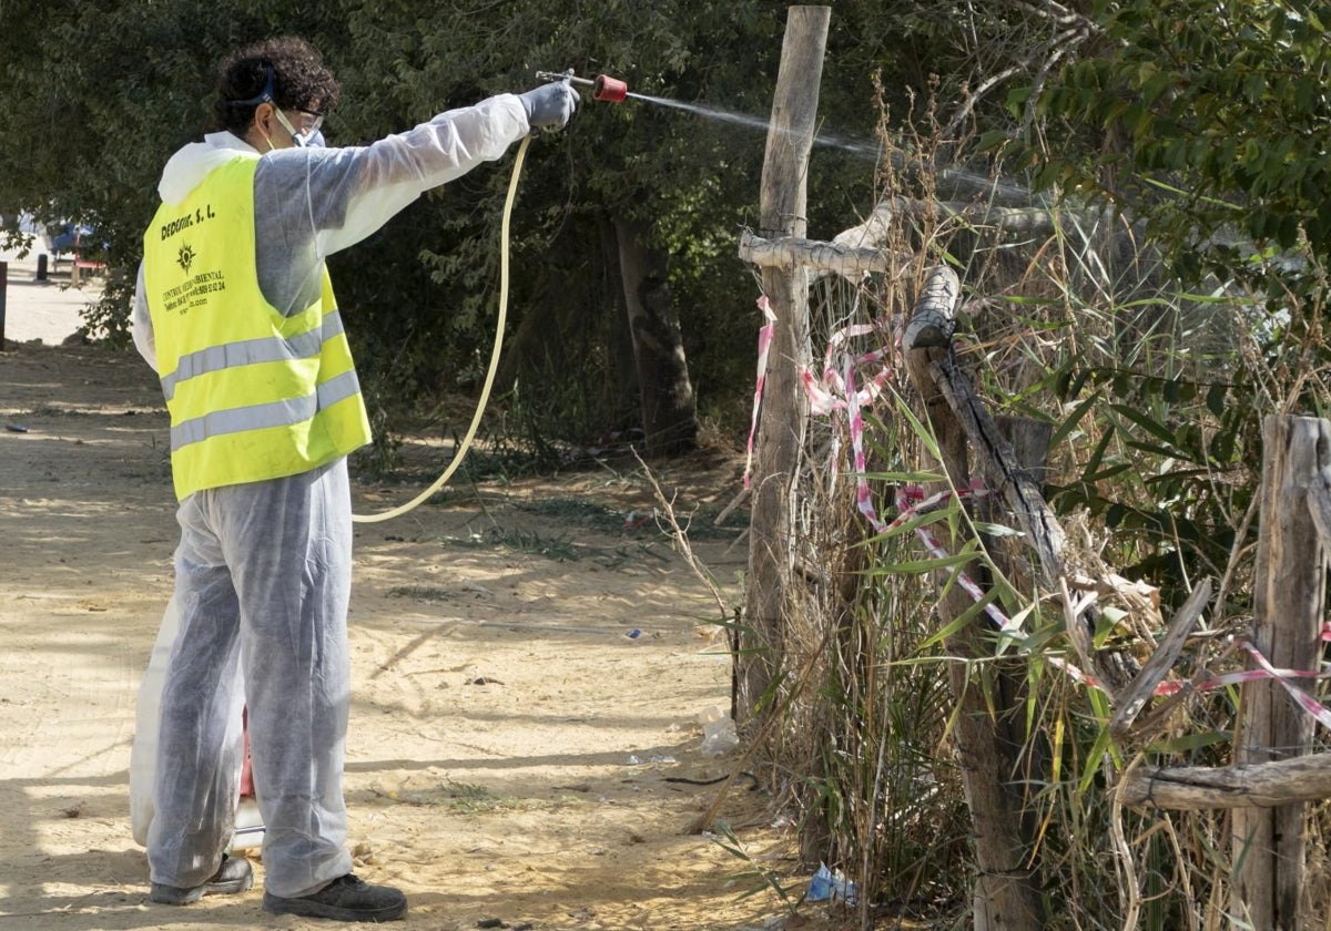
[[[1326,549],[1308,489],[1331,455],[1331,423],[1272,415],[1262,422],[1262,529],[1254,580],[1252,645],[1276,668],[1316,669]],[[1295,688],[1304,688],[1295,682]],[[1288,759],[1308,751],[1312,718],[1272,680],[1243,685],[1234,762]],[[1302,928],[1306,805],[1234,810],[1233,918],[1254,928]]]

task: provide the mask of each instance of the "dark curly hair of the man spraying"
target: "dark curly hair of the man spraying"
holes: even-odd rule
[[[265,92],[285,110],[327,113],[337,106],[341,90],[313,45],[298,36],[282,36],[245,45],[222,60],[213,116],[218,129],[244,136]]]

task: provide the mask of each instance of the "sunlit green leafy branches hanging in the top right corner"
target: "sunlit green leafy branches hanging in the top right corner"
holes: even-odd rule
[[[1044,160],[1040,184],[1105,194],[1151,218],[1195,275],[1231,267],[1233,230],[1331,253],[1331,45],[1324,4],[1295,0],[1099,3],[1099,53],[1040,97],[1054,124],[1099,128],[1098,152]]]

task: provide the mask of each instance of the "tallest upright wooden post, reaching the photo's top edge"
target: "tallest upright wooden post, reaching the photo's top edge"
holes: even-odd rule
[[[791,7],[763,162],[761,233],[803,237],[809,153],[831,7]],[[735,657],[739,721],[749,718],[780,669],[795,573],[793,497],[808,422],[799,366],[809,358],[808,271],[763,269],[776,314],[761,420],[755,446],[744,629]]]

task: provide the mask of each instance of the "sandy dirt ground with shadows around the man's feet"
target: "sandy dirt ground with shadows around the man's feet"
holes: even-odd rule
[[[9,266],[0,931],[329,927],[265,915],[258,887],[188,908],[148,902],[128,782],[137,689],[172,584],[166,420],[133,352],[60,346],[91,294],[61,285]],[[737,476],[716,455],[658,475],[680,511],[709,513]],[[355,507],[413,491],[357,485]],[[743,875],[755,864],[808,882],[760,791],[721,809],[752,863],[685,831],[717,787],[672,779],[739,765],[701,753],[699,716],[728,708],[729,665],[709,636],[709,588],[639,520],[652,505],[640,469],[596,466],[457,484],[359,527],[350,846],[358,875],[409,894],[397,927],[840,926],[819,906],[788,915],[771,892],[744,896],[760,887]],[[732,601],[747,560],[736,536],[695,543]],[[261,884],[258,851],[246,855]]]

